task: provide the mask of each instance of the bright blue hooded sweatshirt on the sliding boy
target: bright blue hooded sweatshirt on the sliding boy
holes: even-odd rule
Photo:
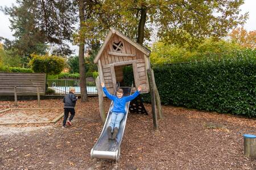
[[[114,107],[112,109],[112,112],[123,113],[123,114],[126,113],[126,111],[125,111],[125,104],[126,104],[126,102],[135,99],[139,95],[139,91],[137,90],[133,95],[123,96],[123,97],[121,97],[119,99],[117,96],[109,94],[109,92],[106,89],[106,87],[103,87],[103,91],[106,94],[106,96],[110,100],[113,100],[113,102],[114,102]]]

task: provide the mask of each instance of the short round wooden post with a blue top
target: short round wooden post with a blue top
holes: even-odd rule
[[[244,154],[248,158],[256,159],[256,136],[251,134],[243,135]]]

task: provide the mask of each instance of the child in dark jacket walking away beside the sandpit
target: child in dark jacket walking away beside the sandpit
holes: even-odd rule
[[[63,99],[64,103],[64,119],[63,119],[63,128],[66,128],[66,122],[69,126],[71,126],[71,121],[75,116],[75,105],[76,105],[77,97],[75,96],[75,88],[69,88],[69,94],[65,95]],[[71,116],[68,119],[68,114],[71,113]]]

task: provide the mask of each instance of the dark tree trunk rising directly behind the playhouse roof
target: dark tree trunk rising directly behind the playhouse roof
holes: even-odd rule
[[[146,18],[147,18],[147,9],[146,7],[142,7],[141,19],[139,19],[138,39],[137,39],[137,42],[141,45],[143,44],[143,40],[144,40],[144,27],[146,24]]]

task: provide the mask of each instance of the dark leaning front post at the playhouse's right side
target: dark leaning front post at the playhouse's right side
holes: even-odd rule
[[[151,95],[151,107],[152,107],[152,117],[153,117],[153,124],[154,124],[154,129],[158,130],[158,117],[156,114],[156,104],[155,104],[155,92],[154,92],[154,83],[152,81],[152,74],[151,70],[147,69],[147,76],[149,80],[149,86],[150,86],[150,95]]]

